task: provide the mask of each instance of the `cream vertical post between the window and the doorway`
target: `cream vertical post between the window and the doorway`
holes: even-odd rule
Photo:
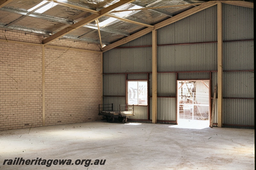
[[[152,30],[152,123],[157,122],[157,35]]]

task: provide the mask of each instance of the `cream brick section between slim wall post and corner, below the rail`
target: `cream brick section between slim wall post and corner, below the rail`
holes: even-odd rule
[[[99,120],[100,66],[99,54],[46,48],[45,125]]]

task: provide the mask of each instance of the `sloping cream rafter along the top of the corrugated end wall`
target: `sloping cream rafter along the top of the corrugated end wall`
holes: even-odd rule
[[[216,5],[215,1],[212,2],[212,3],[203,3],[203,4],[199,5],[199,6],[191,8],[191,9],[185,11],[185,12],[182,12],[182,13],[180,13],[178,15],[175,15],[172,18],[166,19],[166,20],[164,20],[164,21],[154,25],[155,26],[154,29],[158,29],[158,28],[164,27],[166,25],[169,25],[169,24],[171,24],[173,22],[176,22],[176,21],[178,21],[180,19],[186,18],[186,17],[188,17],[188,16],[190,16],[190,15],[196,13],[196,12],[202,11],[202,10],[204,10],[206,8],[209,8],[209,7],[213,6],[213,5]],[[102,50],[103,50],[103,52],[105,52],[105,51],[110,50],[112,48],[115,48],[115,47],[117,47],[119,45],[122,45],[124,43],[129,42],[129,41],[132,41],[132,40],[134,40],[134,39],[136,39],[136,38],[138,38],[138,37],[140,37],[142,35],[148,34],[152,30],[153,30],[153,28],[148,27],[148,28],[143,29],[143,30],[141,30],[141,31],[139,31],[137,33],[134,33],[134,34],[132,34],[132,35],[122,39],[122,40],[119,40],[119,41],[117,41],[115,43],[107,45],[107,46],[103,47]]]

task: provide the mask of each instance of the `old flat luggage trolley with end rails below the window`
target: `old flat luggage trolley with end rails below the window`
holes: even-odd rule
[[[134,116],[134,105],[121,105],[119,104],[119,111],[114,111],[112,104],[99,104],[99,115],[109,123],[113,123],[115,120],[123,121],[127,123],[129,116]]]

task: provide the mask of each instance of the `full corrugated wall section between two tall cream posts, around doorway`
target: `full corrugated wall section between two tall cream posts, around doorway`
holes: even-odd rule
[[[216,11],[213,6],[157,30],[158,121],[177,120],[176,80],[210,80],[217,70]]]

